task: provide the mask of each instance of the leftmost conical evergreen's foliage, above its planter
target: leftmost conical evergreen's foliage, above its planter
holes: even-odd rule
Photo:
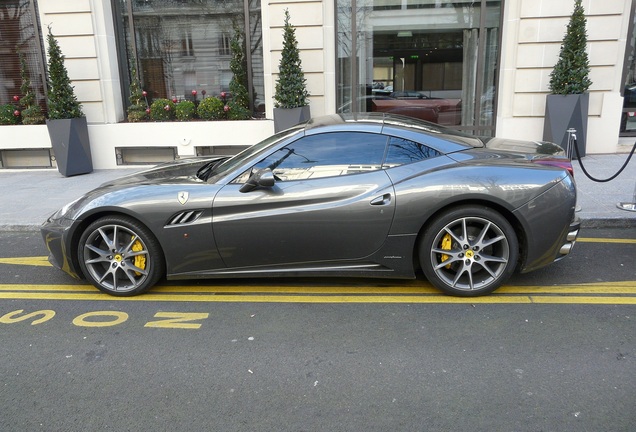
[[[71,119],[84,117],[82,106],[77,101],[75,91],[68,77],[68,71],[64,66],[64,55],[60,45],[51,33],[46,37],[49,61],[48,61],[48,109],[49,119]]]

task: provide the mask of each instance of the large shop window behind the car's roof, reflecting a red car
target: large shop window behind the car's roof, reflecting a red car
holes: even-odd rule
[[[501,1],[335,1],[339,112],[494,134]]]

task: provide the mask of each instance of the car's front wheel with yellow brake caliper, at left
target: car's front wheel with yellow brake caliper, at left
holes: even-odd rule
[[[155,236],[126,216],[104,217],[90,224],[82,233],[77,256],[84,276],[114,296],[141,294],[165,274]]]

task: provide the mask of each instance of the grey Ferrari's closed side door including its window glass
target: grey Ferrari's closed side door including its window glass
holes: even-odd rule
[[[394,190],[381,169],[387,138],[362,132],[304,136],[225,185],[213,230],[227,267],[273,266],[366,257],[391,227]],[[271,170],[275,184],[241,192]]]

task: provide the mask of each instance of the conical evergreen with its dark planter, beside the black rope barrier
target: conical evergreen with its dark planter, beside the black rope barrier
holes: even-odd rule
[[[550,73],[550,92],[546,99],[543,139],[568,149],[568,129],[576,129],[577,149],[585,156],[590,65],[587,54],[585,11],[581,0],[574,1],[559,59]],[[574,152],[573,149],[571,152]],[[575,153],[571,153],[572,156]]]

